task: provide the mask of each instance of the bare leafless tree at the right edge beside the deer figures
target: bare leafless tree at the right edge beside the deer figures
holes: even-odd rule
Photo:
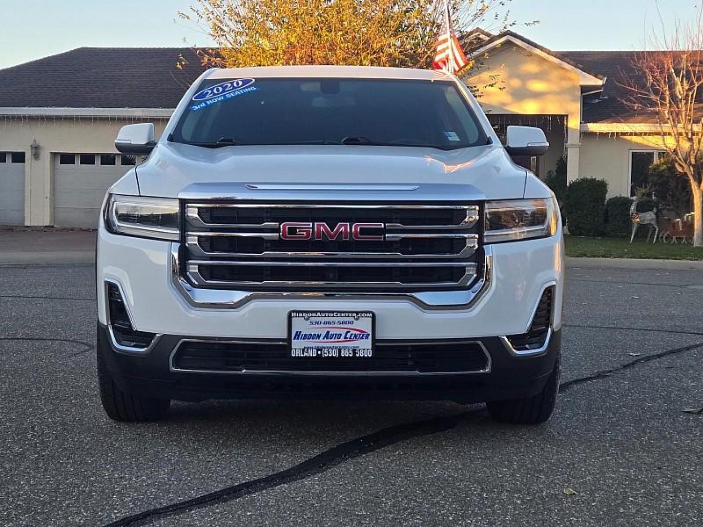
[[[661,20],[661,15],[660,15]],[[656,120],[662,143],[678,174],[691,188],[693,245],[703,247],[703,6],[694,20],[652,34],[632,60],[634,73],[622,83],[626,103]]]

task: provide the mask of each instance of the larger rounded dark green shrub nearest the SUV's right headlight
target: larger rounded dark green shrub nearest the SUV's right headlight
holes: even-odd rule
[[[569,233],[576,236],[602,234],[607,193],[608,183],[604,179],[579,178],[572,181],[564,201]]]

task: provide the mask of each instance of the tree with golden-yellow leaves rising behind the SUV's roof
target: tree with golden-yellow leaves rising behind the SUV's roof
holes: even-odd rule
[[[454,0],[456,30],[512,25],[506,1]],[[198,50],[209,67],[426,67],[439,31],[437,0],[197,0],[179,16],[214,43]]]

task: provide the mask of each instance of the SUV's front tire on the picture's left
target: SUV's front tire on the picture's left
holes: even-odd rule
[[[120,422],[146,422],[163,419],[171,401],[169,399],[155,399],[142,397],[122,391],[110,375],[105,361],[105,352],[98,338],[98,386],[100,399],[105,413]]]

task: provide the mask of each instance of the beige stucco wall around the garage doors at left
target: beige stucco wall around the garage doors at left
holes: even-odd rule
[[[166,124],[165,119],[144,119],[155,122],[157,137]],[[47,117],[20,119],[0,118],[0,151],[26,152],[25,164],[25,224],[52,225],[54,152],[111,153],[114,141],[124,124],[143,122],[142,119],[108,119],[106,117],[73,119]],[[30,155],[30,143],[40,145],[39,160]]]

